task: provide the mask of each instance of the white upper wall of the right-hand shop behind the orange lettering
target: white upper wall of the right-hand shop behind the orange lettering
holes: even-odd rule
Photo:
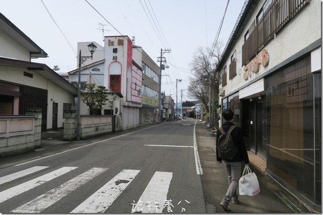
[[[249,14],[249,17],[251,18],[249,18],[245,27],[242,28],[243,30],[241,31],[239,38],[237,38],[236,43],[230,48],[231,52],[227,55],[227,60],[224,63],[224,65],[227,65],[227,85],[223,86],[226,95],[321,38],[321,5],[320,1],[312,0],[275,36],[275,38],[263,47],[263,49],[266,49],[269,53],[268,65],[263,67],[260,64],[259,71],[257,73],[252,73],[251,77],[244,80],[244,66],[241,66],[244,35],[254,22],[264,1],[265,0],[257,1],[257,5],[252,10],[251,14]],[[229,80],[230,58],[235,49],[237,56],[237,75]]]

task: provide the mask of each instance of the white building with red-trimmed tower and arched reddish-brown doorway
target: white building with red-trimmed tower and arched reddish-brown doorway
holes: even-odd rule
[[[79,42],[82,56],[90,56],[87,44]],[[128,36],[105,36],[104,47],[93,42],[97,49],[93,59],[81,67],[81,83],[95,83],[105,86],[109,94],[118,95],[118,105],[104,109],[104,114],[121,115],[122,129],[139,126],[139,109],[142,104],[142,69],[132,59],[132,41]],[[97,61],[95,61],[95,59]],[[69,72],[70,81],[78,81],[78,69]],[[82,84],[81,84],[82,85]],[[81,113],[84,113],[81,108]]]

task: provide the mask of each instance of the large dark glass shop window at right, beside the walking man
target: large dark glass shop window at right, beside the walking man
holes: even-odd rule
[[[321,74],[310,56],[266,78],[267,168],[321,204]]]

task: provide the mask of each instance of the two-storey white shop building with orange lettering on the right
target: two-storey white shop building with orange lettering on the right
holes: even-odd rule
[[[246,0],[216,69],[250,152],[321,212],[321,2]]]

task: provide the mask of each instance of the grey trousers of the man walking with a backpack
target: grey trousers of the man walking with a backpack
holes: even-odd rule
[[[241,166],[242,161],[240,162],[226,162],[224,161],[224,166],[227,171],[229,188],[225,194],[224,201],[229,204],[231,198],[238,198],[237,187],[239,185],[239,179],[241,177]]]

